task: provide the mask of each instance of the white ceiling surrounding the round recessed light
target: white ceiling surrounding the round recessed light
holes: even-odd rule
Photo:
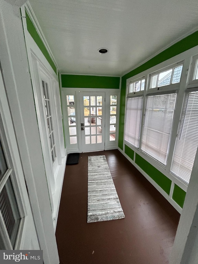
[[[122,76],[198,29],[197,0],[29,2],[62,73]]]

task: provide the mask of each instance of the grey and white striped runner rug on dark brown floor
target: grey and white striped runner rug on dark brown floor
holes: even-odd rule
[[[87,223],[125,218],[105,155],[88,156]]]

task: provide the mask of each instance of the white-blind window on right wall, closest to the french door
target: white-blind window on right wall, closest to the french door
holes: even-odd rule
[[[127,113],[124,139],[136,148],[139,147],[143,97],[127,99]]]

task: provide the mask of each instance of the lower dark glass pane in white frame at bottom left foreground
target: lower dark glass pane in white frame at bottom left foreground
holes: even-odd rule
[[[14,247],[19,230],[20,214],[10,177],[0,193],[0,210],[11,244]]]

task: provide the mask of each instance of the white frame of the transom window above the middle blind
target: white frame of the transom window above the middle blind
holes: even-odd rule
[[[181,77],[180,77],[179,83],[171,84],[171,82],[172,82],[172,79],[173,79],[174,68],[177,68],[177,67],[179,67],[179,66],[181,66],[183,64],[184,64],[184,60],[182,60],[180,62],[177,62],[177,63],[174,63],[172,65],[170,64],[169,66],[166,66],[164,68],[161,68],[160,70],[157,70],[157,71],[154,71],[154,72],[150,73],[149,74],[149,86],[148,86],[147,93],[160,93],[162,91],[167,91],[168,92],[168,91],[171,91],[171,90],[178,90],[179,87],[180,87],[180,84],[181,84],[181,79],[182,79],[182,75],[183,75],[183,68],[182,68],[182,73],[181,73]],[[172,74],[171,74],[170,84],[164,85],[164,86],[160,86],[160,87],[151,88],[153,76],[155,76],[157,74],[160,74],[160,73],[163,73],[165,71],[171,70],[171,69],[173,69],[173,71],[172,71]]]

